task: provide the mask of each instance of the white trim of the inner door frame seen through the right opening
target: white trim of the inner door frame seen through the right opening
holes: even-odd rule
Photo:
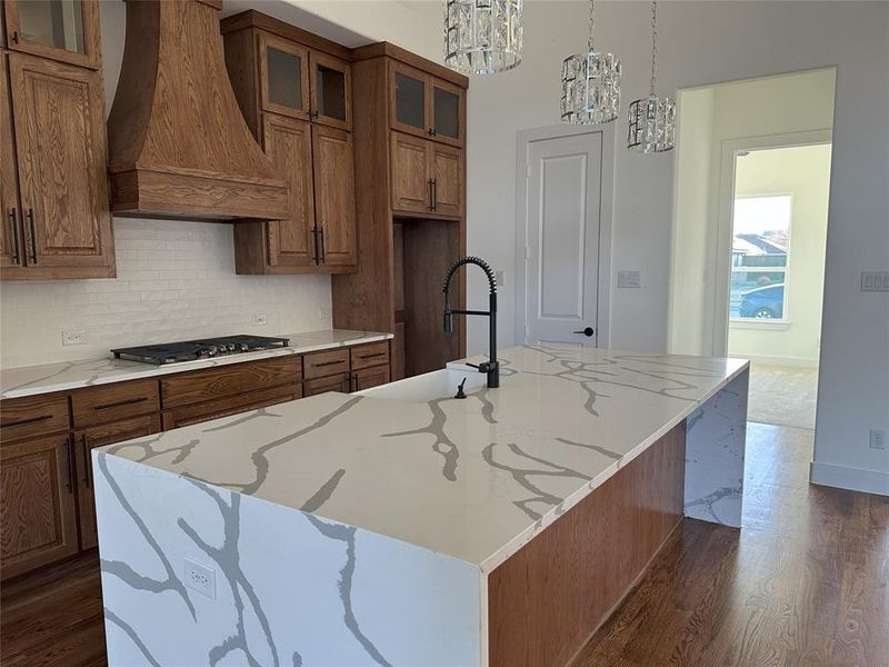
[[[731,271],[731,230],[735,226],[735,157],[739,152],[819,146],[833,142],[833,130],[806,130],[780,135],[765,135],[741,139],[727,139],[722,142],[719,163],[719,192],[717,211],[717,233],[715,246],[710,249],[708,265],[713,267],[713,293],[710,299],[712,312],[712,340],[710,354],[727,357],[729,347],[729,288]],[[712,210],[712,209],[711,209]],[[828,233],[830,230],[828,229]],[[792,236],[791,236],[792,243]],[[706,340],[705,340],[706,346]]]

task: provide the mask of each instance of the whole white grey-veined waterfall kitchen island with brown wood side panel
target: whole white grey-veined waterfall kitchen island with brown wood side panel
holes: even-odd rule
[[[740,525],[746,361],[553,346],[501,358],[501,387],[466,400],[456,384],[414,399],[393,384],[97,450],[109,663],[515,665],[498,616],[521,591],[505,597],[502,573],[560,526],[612,511],[608,498],[623,507],[639,480],[633,494],[653,496],[627,511],[661,532],[683,506]],[[652,511],[661,487],[672,514]],[[603,535],[619,542],[627,517]],[[214,581],[189,581],[187,563]],[[582,563],[568,574],[595,569]],[[522,641],[533,667],[577,648]]]

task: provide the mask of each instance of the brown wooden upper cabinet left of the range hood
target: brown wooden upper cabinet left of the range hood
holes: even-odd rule
[[[10,47],[19,48],[3,54],[0,74],[0,277],[113,277],[102,76],[91,67],[101,62],[91,46],[97,4],[6,2],[4,9],[8,29],[18,31]],[[36,28],[50,18],[58,19],[52,30]],[[60,47],[53,30],[74,37]]]

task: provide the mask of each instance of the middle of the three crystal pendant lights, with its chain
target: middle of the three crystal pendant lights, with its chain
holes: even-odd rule
[[[561,116],[565,122],[597,125],[611,122],[620,112],[620,60],[593,47],[596,0],[590,0],[587,52],[562,62]]]

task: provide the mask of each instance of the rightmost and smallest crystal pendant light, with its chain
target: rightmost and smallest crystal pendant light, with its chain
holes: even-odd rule
[[[676,102],[655,94],[658,58],[658,0],[651,3],[651,88],[647,98],[630,102],[627,148],[643,155],[671,150],[676,145]]]

